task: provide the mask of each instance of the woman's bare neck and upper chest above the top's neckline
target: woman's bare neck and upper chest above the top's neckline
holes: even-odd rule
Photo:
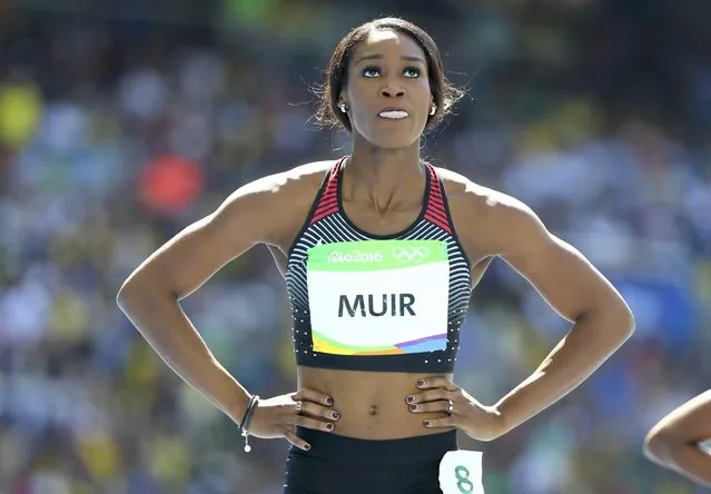
[[[354,142],[344,174],[349,196],[367,200],[378,209],[422,200],[424,169],[419,141],[405,149],[381,149]]]

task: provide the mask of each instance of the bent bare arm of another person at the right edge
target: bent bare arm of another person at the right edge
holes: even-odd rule
[[[711,391],[662,418],[644,441],[652,462],[711,487],[711,455],[699,443],[711,439]]]

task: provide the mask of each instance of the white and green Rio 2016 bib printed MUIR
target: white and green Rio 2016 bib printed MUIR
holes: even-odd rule
[[[446,243],[317,245],[308,250],[306,269],[315,352],[397,355],[446,348]]]

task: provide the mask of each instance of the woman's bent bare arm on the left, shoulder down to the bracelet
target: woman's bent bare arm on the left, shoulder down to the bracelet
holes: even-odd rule
[[[249,394],[217,362],[179,300],[254,245],[278,245],[298,228],[307,207],[299,215],[303,201],[295,197],[295,181],[279,174],[239,188],[146,259],[117,296],[121,310],[160,358],[236,423]]]

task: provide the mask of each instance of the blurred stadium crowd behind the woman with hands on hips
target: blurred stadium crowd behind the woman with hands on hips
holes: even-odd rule
[[[636,315],[559,405],[494,443],[462,439],[485,452],[487,494],[700,492],[641,447],[711,382],[711,2],[403,4],[0,1],[0,493],[280,492],[286,442],[245,454],[115,296],[240,185],[348,152],[315,125],[312,90],[338,39],[381,14],[428,30],[468,89],[427,158],[527,202]],[[294,389],[266,248],[184,307],[248,389]],[[494,263],[455,378],[494,403],[566,329]]]

